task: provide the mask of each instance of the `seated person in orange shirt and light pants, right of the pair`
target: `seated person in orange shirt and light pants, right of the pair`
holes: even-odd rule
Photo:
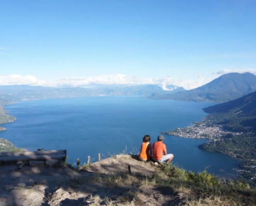
[[[163,162],[167,160],[166,163],[169,163],[174,158],[174,155],[167,153],[167,149],[165,144],[163,144],[163,140],[163,135],[159,135],[157,137],[157,142],[155,142],[152,146],[152,158],[156,162]]]

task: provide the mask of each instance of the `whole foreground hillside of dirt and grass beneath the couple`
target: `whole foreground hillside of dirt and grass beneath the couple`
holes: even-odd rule
[[[173,165],[115,156],[80,169],[0,165],[0,205],[254,205],[248,185],[223,183],[205,171],[194,174]],[[128,165],[131,173],[128,172]]]

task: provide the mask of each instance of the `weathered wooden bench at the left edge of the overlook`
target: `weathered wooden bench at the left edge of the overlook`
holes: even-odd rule
[[[65,159],[66,157],[66,149],[26,152],[0,152],[0,162]]]

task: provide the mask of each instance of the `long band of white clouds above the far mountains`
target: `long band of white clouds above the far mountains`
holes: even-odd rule
[[[172,77],[163,78],[140,78],[127,77],[124,74],[102,75],[97,77],[65,77],[53,81],[44,81],[37,79],[35,76],[26,75],[9,75],[0,76],[0,85],[41,85],[43,87],[90,87],[95,84],[104,85],[141,85],[141,84],[157,84],[164,90],[167,85],[172,84],[178,87],[183,87],[186,90],[194,89],[208,83],[212,79],[204,79],[199,76],[197,80],[192,79],[173,79]]]

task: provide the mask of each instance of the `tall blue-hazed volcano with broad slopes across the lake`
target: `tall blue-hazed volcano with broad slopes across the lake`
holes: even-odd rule
[[[173,94],[153,94],[153,99],[174,99],[181,101],[226,102],[256,91],[256,76],[251,73],[230,73],[192,90]]]

